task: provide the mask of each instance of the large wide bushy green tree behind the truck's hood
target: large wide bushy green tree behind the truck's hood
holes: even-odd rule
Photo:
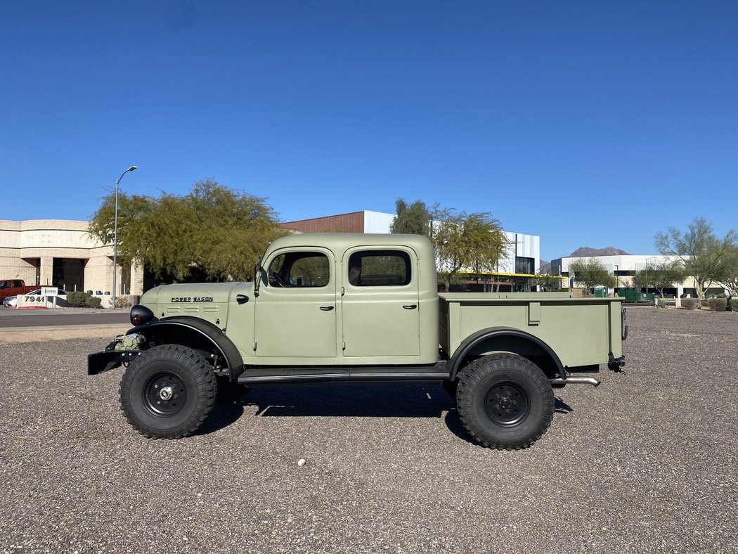
[[[184,196],[119,194],[118,203],[120,262],[176,281],[250,280],[266,245],[286,234],[263,198],[211,180]],[[114,206],[106,196],[92,216],[89,233],[103,244],[113,242]]]

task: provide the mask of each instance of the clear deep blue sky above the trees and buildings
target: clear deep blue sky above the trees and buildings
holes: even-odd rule
[[[2,2],[0,219],[199,179],[289,221],[489,211],[652,253],[737,228],[738,3]]]

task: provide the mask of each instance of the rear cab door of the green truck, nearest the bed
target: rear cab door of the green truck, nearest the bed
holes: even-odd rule
[[[420,355],[417,256],[405,247],[348,250],[342,263],[345,358],[412,363]],[[398,358],[393,360],[392,358]],[[358,360],[357,360],[358,361]]]

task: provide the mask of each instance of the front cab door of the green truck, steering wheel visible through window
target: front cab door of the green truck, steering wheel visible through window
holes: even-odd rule
[[[254,338],[263,363],[328,363],[337,354],[335,260],[323,248],[281,249],[266,260],[255,301]]]

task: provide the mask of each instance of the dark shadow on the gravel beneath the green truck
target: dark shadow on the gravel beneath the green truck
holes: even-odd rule
[[[251,389],[240,398],[218,400],[197,434],[210,434],[249,417],[430,417],[443,419],[453,434],[475,444],[441,386],[302,386]],[[556,397],[554,412],[574,409]]]

